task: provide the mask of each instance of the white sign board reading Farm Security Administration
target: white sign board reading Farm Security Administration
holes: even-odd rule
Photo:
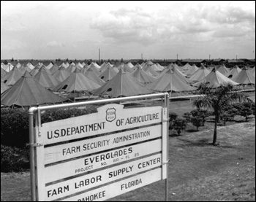
[[[85,139],[67,144],[54,145],[53,147],[45,147],[45,164],[48,165],[62,160],[91,155],[107,149],[139,143],[140,141],[156,139],[162,136],[161,128],[162,125],[154,125],[147,128],[138,128],[132,131],[95,137],[94,139]]]

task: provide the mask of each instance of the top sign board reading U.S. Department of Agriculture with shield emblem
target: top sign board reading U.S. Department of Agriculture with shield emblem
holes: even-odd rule
[[[162,122],[161,106],[132,109],[123,109],[123,107],[118,104],[105,105],[98,108],[98,113],[44,123],[41,128],[44,143],[56,144]],[[106,115],[109,109],[112,110],[111,112],[113,109],[116,110],[115,115],[112,115],[116,118],[111,122],[110,117]]]

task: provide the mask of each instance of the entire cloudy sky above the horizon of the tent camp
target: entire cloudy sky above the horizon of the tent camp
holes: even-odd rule
[[[1,1],[1,59],[255,59],[255,1]]]

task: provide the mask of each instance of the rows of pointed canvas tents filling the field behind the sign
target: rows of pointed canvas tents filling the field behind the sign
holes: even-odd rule
[[[29,66],[14,66],[10,72],[1,68],[1,105],[33,106],[68,101],[67,98],[58,96],[58,92],[86,92],[97,96],[119,97],[154,92],[190,92],[197,90],[203,83],[209,88],[227,83],[255,85],[255,67],[240,71],[238,68],[226,68],[227,73],[232,71],[232,75],[239,71],[234,78],[241,82],[237,82],[221,73],[225,66],[206,69],[204,66],[195,68],[188,64],[181,67],[172,64],[167,67],[159,66],[157,70],[155,66],[157,65],[154,63],[144,63],[143,66],[127,63],[118,67],[110,63],[102,66],[91,63],[83,67],[79,64],[61,64],[49,68],[39,64],[34,69]]]

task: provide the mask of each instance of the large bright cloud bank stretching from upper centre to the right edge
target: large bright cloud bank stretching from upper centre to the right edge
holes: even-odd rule
[[[140,7],[117,9],[99,15],[91,28],[116,43],[149,45],[182,39],[197,42],[197,36],[202,34],[202,40],[210,42],[214,37],[239,37],[255,32],[255,9],[250,2],[176,2],[175,7],[154,12],[145,12]]]

